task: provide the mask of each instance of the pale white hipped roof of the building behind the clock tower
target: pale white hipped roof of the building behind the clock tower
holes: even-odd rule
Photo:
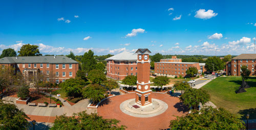
[[[119,54],[116,54],[114,56],[111,56],[109,58],[106,58],[105,60],[116,60],[116,61],[137,61],[138,57],[136,53],[130,53],[130,52],[122,52]]]

